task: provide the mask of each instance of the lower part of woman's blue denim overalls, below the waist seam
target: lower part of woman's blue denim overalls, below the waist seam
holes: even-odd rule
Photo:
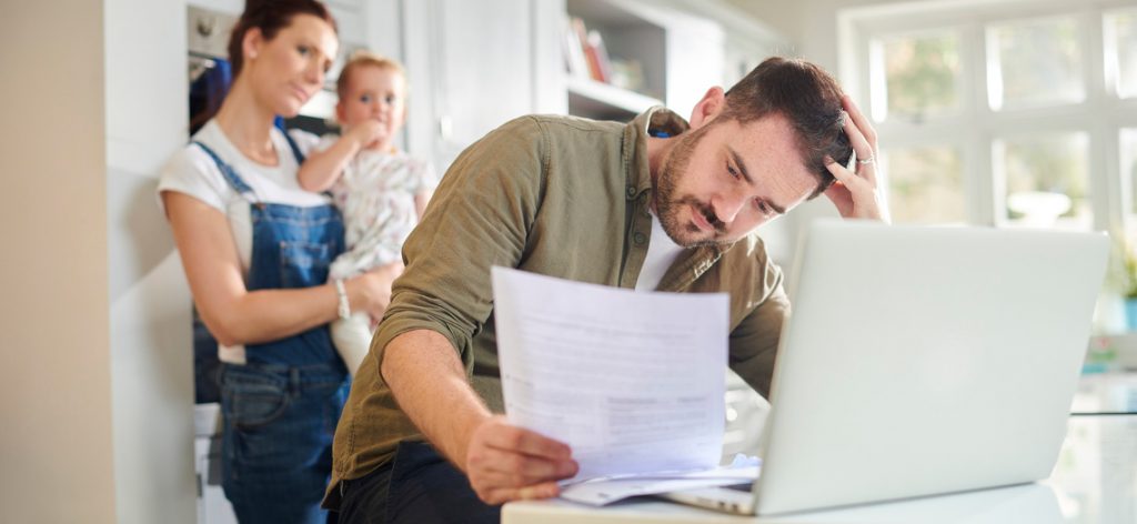
[[[222,488],[242,524],[324,523],[341,365],[224,365]]]

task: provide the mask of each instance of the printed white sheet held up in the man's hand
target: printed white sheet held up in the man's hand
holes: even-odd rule
[[[573,482],[717,467],[727,294],[492,277],[506,415],[567,443]]]

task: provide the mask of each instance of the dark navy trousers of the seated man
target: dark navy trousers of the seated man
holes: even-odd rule
[[[399,442],[393,459],[340,486],[340,524],[501,521],[501,507],[482,502],[466,475],[425,442]]]

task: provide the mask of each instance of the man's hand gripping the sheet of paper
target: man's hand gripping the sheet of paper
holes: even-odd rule
[[[474,430],[463,466],[478,498],[495,505],[556,497],[557,481],[579,469],[568,446],[511,425],[503,415]]]

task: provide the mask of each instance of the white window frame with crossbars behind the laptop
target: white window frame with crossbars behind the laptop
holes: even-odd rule
[[[883,147],[945,144],[961,148],[968,223],[1009,226],[1005,181],[994,166],[996,140],[1032,132],[1081,131],[1089,136],[1088,189],[1093,227],[1123,231],[1134,209],[1121,176],[1121,130],[1137,127],[1137,98],[1120,99],[1107,85],[1105,14],[1132,8],[1126,0],[1089,0],[1071,6],[1053,0],[963,0],[904,2],[841,9],[838,20],[839,76],[862,110],[872,114],[871,45],[874,39],[955,30],[960,33],[961,110],[922,123],[873,123]],[[988,103],[987,26],[1073,16],[1079,26],[1085,100],[1046,108],[993,110]],[[961,133],[961,130],[966,132]],[[887,181],[886,181],[887,185]],[[887,191],[887,190],[886,190]]]

